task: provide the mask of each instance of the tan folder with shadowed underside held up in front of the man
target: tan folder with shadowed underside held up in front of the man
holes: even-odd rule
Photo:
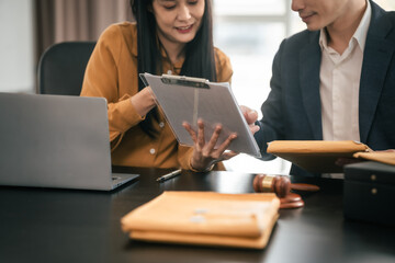
[[[341,173],[339,158],[368,151],[366,145],[353,140],[273,140],[268,146],[268,152],[313,173]]]

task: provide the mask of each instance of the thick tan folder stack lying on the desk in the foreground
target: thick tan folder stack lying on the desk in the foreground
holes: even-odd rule
[[[279,217],[274,194],[165,192],[121,219],[132,239],[261,249]]]

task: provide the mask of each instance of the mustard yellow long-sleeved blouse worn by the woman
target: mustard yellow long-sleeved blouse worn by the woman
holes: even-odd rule
[[[218,82],[233,75],[228,57],[215,48]],[[182,62],[171,65],[162,52],[162,72],[179,75]],[[182,168],[191,170],[193,148],[180,146],[160,112],[154,121],[157,138],[147,136],[138,123],[144,119],[128,100],[138,92],[137,27],[124,22],[109,26],[100,36],[88,62],[82,96],[108,100],[112,163],[114,165]]]

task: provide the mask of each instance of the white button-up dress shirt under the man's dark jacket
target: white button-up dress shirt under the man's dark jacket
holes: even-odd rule
[[[319,93],[324,140],[360,140],[359,89],[370,20],[370,2],[362,20],[340,55],[328,46],[326,30],[320,31],[321,65]]]

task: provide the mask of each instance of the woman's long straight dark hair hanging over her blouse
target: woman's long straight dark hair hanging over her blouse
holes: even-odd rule
[[[161,75],[161,56],[156,35],[157,25],[153,12],[149,11],[153,10],[153,1],[131,0],[132,12],[137,23],[137,69],[138,73]],[[193,41],[185,45],[185,59],[180,75],[216,81],[212,1],[204,1],[202,24]],[[142,80],[138,80],[138,91],[144,88]],[[158,119],[157,107],[147,113],[145,119],[139,123],[140,128],[150,137],[156,136],[153,127],[154,118]]]

